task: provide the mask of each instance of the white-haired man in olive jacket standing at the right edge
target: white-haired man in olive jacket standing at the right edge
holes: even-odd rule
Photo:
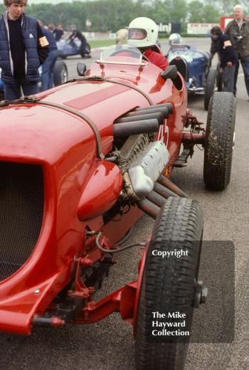
[[[230,36],[231,43],[242,65],[245,76],[245,87],[249,96],[249,21],[243,17],[243,7],[237,4],[233,7],[235,19],[228,23],[225,33]],[[234,95],[238,78],[239,63],[235,68]]]

